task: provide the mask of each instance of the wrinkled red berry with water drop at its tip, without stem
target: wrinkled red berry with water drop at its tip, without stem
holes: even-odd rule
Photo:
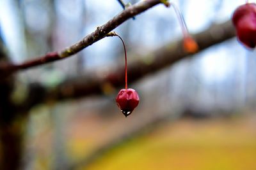
[[[116,96],[116,104],[125,115],[131,115],[134,108],[139,104],[140,97],[134,89],[121,89]]]

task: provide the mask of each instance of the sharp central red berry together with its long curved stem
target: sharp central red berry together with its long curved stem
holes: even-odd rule
[[[116,96],[116,104],[125,115],[125,117],[131,115],[134,108],[139,104],[140,97],[136,90],[128,89],[127,86],[127,54],[126,48],[123,39],[116,34],[115,32],[109,32],[107,36],[118,36],[121,39],[124,46],[124,55],[125,55],[125,89],[121,89]]]

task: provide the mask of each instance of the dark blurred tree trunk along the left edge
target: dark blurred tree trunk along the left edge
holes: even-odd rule
[[[7,60],[2,42],[0,37],[0,60]],[[22,121],[11,98],[13,84],[13,76],[0,80],[0,169],[3,170],[19,169],[22,153]]]

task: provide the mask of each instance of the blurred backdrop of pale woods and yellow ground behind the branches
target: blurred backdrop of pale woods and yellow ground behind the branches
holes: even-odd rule
[[[171,2],[191,34],[227,22],[244,3]],[[19,63],[76,43],[122,10],[115,0],[1,0],[0,32],[11,60]],[[182,38],[173,8],[163,5],[115,31],[128,60]],[[85,73],[104,76],[102,70],[120,63],[121,41],[104,38],[74,57],[20,72],[15,99],[28,84],[56,88]],[[255,75],[255,50],[234,37],[131,84],[128,77],[140,104],[127,118],[115,103],[122,87],[111,85],[104,85],[104,94],[37,104],[24,125],[22,169],[256,169]]]

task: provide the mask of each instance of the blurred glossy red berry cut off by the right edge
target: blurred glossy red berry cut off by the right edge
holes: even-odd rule
[[[232,22],[236,27],[237,39],[248,48],[256,46],[256,4],[246,3],[233,13]]]

